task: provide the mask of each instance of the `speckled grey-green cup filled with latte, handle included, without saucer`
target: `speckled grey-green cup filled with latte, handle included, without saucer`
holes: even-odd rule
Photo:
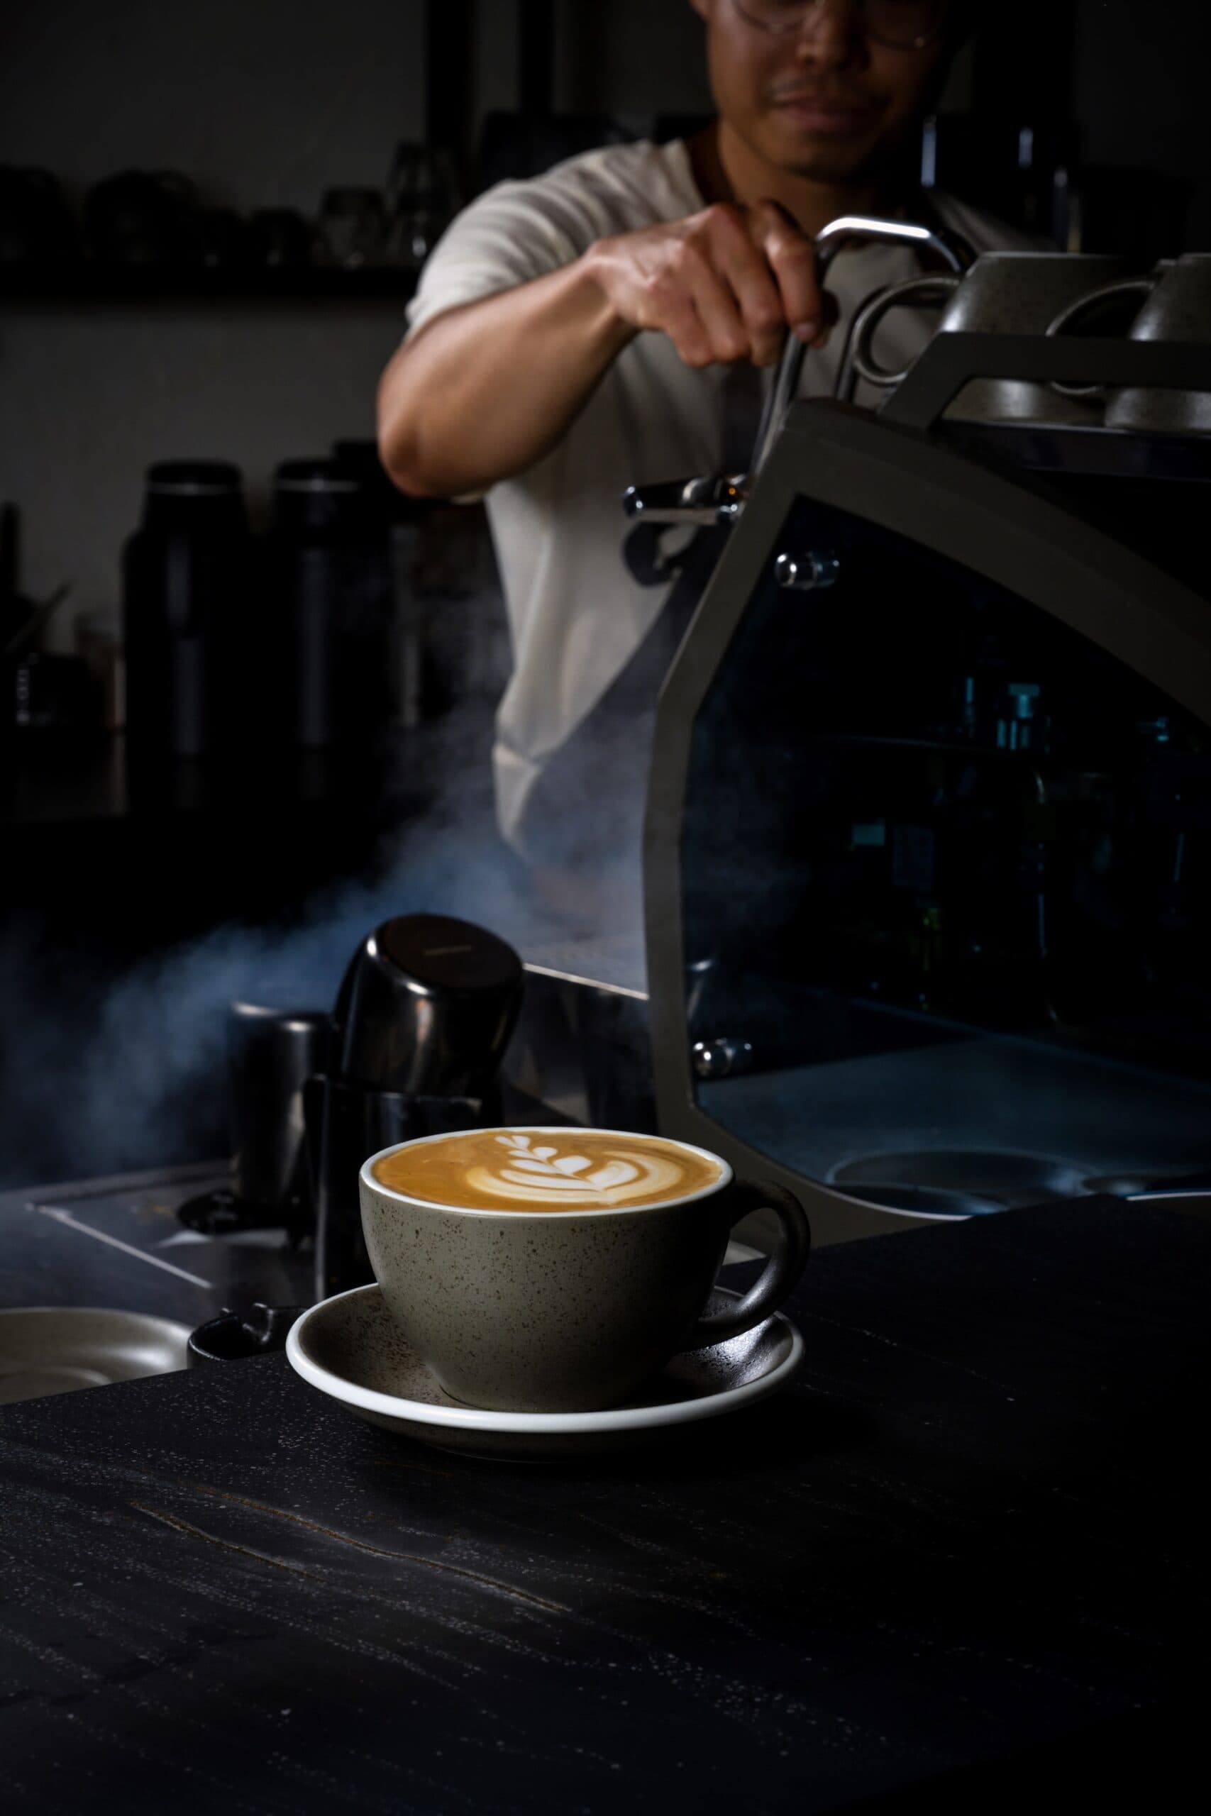
[[[483,1137],[476,1155],[472,1135]],[[487,1191],[450,1186],[456,1142],[478,1157],[474,1179],[492,1173]],[[447,1180],[401,1173],[418,1164],[445,1168]],[[383,1166],[409,1184],[385,1184]],[[436,1135],[372,1155],[359,1186],[370,1266],[396,1324],[448,1395],[496,1411],[617,1406],[677,1351],[768,1318],[808,1260],[808,1219],[790,1191],[741,1182],[704,1148],[650,1135]],[[510,1208],[525,1204],[541,1208]],[[733,1306],[704,1311],[728,1231],[761,1208],[777,1219],[761,1278]]]

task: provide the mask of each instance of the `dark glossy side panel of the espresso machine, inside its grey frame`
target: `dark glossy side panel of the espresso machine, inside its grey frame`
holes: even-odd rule
[[[692,741],[699,1110],[919,1215],[1206,1171],[1207,728],[908,538],[775,547],[824,585],[770,563]]]

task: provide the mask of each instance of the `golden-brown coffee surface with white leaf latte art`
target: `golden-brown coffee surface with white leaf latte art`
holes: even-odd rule
[[[467,1211],[608,1211],[668,1204],[723,1179],[723,1164],[605,1130],[467,1130],[414,1142],[372,1168],[390,1191]]]

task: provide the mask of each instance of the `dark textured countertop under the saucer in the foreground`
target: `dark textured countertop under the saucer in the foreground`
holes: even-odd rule
[[[5,1809],[1177,1807],[1209,1262],[1118,1200],[832,1248],[788,1393],[592,1466],[283,1357],[4,1409]]]

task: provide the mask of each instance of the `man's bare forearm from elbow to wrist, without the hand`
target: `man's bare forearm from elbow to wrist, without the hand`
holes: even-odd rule
[[[523,472],[563,439],[634,334],[592,260],[438,316],[379,383],[387,472],[421,498]]]

